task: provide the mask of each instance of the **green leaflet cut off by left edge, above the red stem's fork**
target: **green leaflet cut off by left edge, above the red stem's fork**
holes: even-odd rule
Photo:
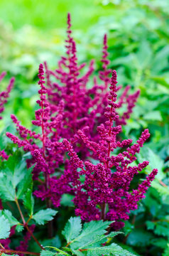
[[[10,177],[2,173],[0,174],[0,198],[4,201],[15,201],[15,189]]]

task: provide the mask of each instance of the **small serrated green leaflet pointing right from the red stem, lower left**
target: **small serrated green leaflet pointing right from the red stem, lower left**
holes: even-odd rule
[[[47,221],[53,220],[53,217],[58,213],[57,210],[47,208],[45,210],[39,210],[38,213],[32,216],[33,220],[39,225],[44,225]]]

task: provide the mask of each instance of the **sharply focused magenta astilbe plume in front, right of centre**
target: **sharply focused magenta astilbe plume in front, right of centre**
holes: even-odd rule
[[[122,142],[116,139],[121,132],[121,125],[116,125],[119,120],[119,115],[116,114],[116,108],[119,107],[116,103],[116,83],[116,71],[113,70],[108,95],[109,106],[104,111],[107,121],[97,127],[98,143],[92,142],[82,130],[78,131],[81,141],[92,151],[90,156],[98,163],[93,164],[91,158],[90,161],[83,162],[67,139],[62,143],[70,156],[69,166],[65,169],[65,179],[69,181],[71,192],[75,195],[73,201],[76,215],[87,221],[115,220],[114,228],[118,229],[124,225],[122,220],[129,219],[129,212],[137,208],[138,201],[144,197],[158,170],[153,169],[146,181],[130,191],[133,176],[148,166],[148,161],[132,166],[131,163],[136,161],[136,153],[139,153],[150,134],[148,129],[145,129],[137,143],[132,146],[131,139]],[[117,153],[118,148],[124,148],[124,151]]]

